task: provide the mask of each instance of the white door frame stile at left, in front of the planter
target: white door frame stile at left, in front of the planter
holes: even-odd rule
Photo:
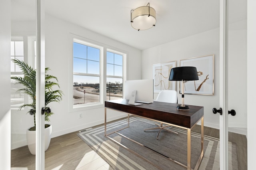
[[[36,2],[36,170],[44,170],[44,0]]]

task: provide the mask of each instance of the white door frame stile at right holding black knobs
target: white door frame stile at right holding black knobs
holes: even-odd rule
[[[228,0],[220,0],[220,170],[228,170]]]

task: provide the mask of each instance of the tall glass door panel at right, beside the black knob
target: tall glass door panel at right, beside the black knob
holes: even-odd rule
[[[247,169],[247,0],[228,1],[228,165]]]

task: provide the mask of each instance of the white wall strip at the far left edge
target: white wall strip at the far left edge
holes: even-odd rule
[[[11,113],[10,113],[10,29],[11,2],[0,1],[0,169],[9,170],[11,165]]]

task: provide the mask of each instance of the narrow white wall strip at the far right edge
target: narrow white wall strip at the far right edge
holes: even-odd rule
[[[248,170],[255,169],[255,153],[256,153],[256,135],[255,135],[255,63],[256,63],[256,1],[248,0],[247,1],[247,20],[248,20],[248,35],[247,35],[247,108],[248,108],[248,117],[247,117],[247,162]]]

